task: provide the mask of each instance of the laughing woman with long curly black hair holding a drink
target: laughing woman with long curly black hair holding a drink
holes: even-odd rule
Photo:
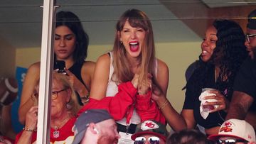
[[[207,62],[200,63],[186,85],[181,116],[187,128],[198,124],[208,135],[218,133],[227,115],[235,75],[247,57],[244,43],[244,33],[233,21],[215,20],[207,29],[201,44],[201,58]],[[201,98],[205,88],[212,90]]]

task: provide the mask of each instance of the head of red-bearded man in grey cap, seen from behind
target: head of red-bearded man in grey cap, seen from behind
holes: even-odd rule
[[[103,109],[90,109],[81,113],[75,122],[74,131],[73,144],[112,144],[120,138],[114,119]]]

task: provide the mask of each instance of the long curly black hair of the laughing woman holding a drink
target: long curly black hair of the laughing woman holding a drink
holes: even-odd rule
[[[216,20],[213,26],[217,29],[218,40],[210,59],[214,62],[214,59],[221,55],[220,73],[217,79],[220,82],[217,83],[217,87],[220,91],[225,90],[222,89],[223,87],[227,87],[228,92],[232,93],[235,75],[248,55],[245,48],[245,36],[242,28],[234,21]]]

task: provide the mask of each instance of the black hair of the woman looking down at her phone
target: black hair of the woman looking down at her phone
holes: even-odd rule
[[[58,26],[67,26],[75,34],[76,42],[73,59],[75,62],[83,63],[87,57],[89,36],[82,28],[82,23],[78,16],[70,11],[59,11],[56,13],[55,28]]]

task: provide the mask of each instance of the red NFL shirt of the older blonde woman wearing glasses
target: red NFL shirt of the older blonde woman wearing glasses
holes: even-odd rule
[[[74,139],[74,132],[72,131],[72,128],[75,121],[76,117],[71,118],[67,123],[65,123],[65,125],[58,130],[60,132],[60,136],[58,138],[53,137],[55,129],[50,128],[50,143],[72,143]],[[18,143],[18,139],[21,137],[22,133],[23,131],[16,135],[15,143]],[[33,132],[31,142],[36,142],[36,132]]]

